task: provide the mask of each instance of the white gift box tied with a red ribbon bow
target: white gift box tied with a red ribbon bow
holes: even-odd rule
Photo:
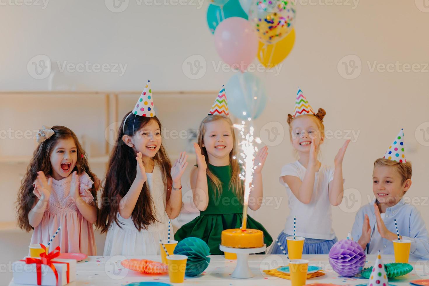
[[[41,244],[42,248],[45,248]],[[76,260],[58,259],[60,247],[39,258],[24,257],[13,262],[13,282],[15,284],[63,286],[76,278]]]

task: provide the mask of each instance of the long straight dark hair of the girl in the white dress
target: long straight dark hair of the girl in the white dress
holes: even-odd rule
[[[122,136],[133,136],[137,131],[151,122],[151,120],[155,120],[161,129],[161,123],[156,116],[145,117],[130,114],[129,112],[122,120],[122,124],[118,130],[115,147],[113,148],[112,154],[109,158],[109,166],[107,168],[106,182],[103,188],[100,213],[97,218],[97,227],[101,230],[101,233],[107,232],[110,226],[112,226],[112,223],[116,223],[121,227],[117,218],[119,202],[127,194],[128,190],[130,190],[131,184],[133,184],[137,175],[136,151],[122,141]],[[165,186],[171,186],[171,162],[162,144],[159,151],[154,156],[154,160],[160,164],[164,175],[163,181]],[[167,188],[166,192],[168,201],[171,190]],[[137,199],[131,218],[134,226],[139,231],[147,229],[151,223],[156,221],[151,193],[149,192],[147,182],[143,184],[142,191]]]

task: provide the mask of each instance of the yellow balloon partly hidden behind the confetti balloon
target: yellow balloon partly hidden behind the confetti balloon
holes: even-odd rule
[[[275,44],[268,45],[259,42],[258,60],[267,68],[272,68],[281,63],[292,51],[295,43],[295,29]]]

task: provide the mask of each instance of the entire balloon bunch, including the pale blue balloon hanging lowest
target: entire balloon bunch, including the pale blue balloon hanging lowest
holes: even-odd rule
[[[235,117],[256,119],[265,108],[263,82],[246,71],[255,56],[267,68],[287,57],[295,43],[295,14],[295,2],[290,0],[211,0],[207,24],[216,51],[239,71],[225,85]]]

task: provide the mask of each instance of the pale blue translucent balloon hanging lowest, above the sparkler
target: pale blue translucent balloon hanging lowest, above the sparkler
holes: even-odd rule
[[[253,73],[237,72],[225,85],[225,93],[230,113],[242,120],[249,117],[256,119],[265,109],[267,102],[265,85]]]

